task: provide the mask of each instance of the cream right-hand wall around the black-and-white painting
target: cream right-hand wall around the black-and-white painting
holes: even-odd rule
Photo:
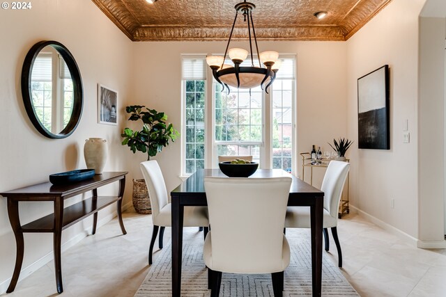
[[[418,237],[418,16],[424,0],[394,0],[347,43],[351,204]],[[357,79],[390,67],[390,150],[357,149]],[[403,143],[408,120],[410,143]],[[394,208],[392,209],[392,200]]]

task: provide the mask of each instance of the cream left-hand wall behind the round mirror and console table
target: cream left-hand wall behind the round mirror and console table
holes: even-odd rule
[[[55,172],[86,168],[83,145],[89,137],[102,137],[109,144],[105,170],[126,170],[121,158],[118,126],[97,124],[97,83],[118,90],[120,111],[130,92],[132,42],[89,0],[32,1],[31,10],[0,11],[0,191],[46,182]],[[24,110],[20,73],[24,57],[36,42],[56,40],[68,47],[79,66],[84,83],[84,111],[76,131],[68,138],[52,140],[38,134]],[[128,203],[131,191],[128,179]],[[100,193],[116,193],[109,186]],[[88,195],[87,195],[88,196]],[[68,204],[75,200],[71,198]],[[101,211],[99,219],[114,214],[116,207]],[[49,202],[20,204],[20,218],[27,223],[52,211]],[[84,236],[91,219],[63,232],[63,243]],[[98,231],[100,232],[100,230]],[[116,230],[120,234],[121,230]],[[25,234],[24,264],[31,264],[52,251],[52,234]],[[67,246],[67,245],[66,245]],[[8,221],[6,198],[0,198],[0,293],[6,291],[15,263],[15,239]],[[52,259],[51,257],[45,258]],[[36,268],[36,266],[34,266]],[[26,275],[26,271],[22,276]]]

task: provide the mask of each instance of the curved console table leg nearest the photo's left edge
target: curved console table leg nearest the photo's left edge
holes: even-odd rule
[[[23,252],[24,252],[23,232],[19,218],[19,202],[13,201],[10,198],[8,198],[8,217],[15,236],[16,255],[15,255],[15,267],[14,267],[13,278],[11,278],[11,282],[9,284],[8,289],[6,290],[6,293],[14,291],[15,285],[17,284],[17,280],[19,280],[20,270],[22,269]]]

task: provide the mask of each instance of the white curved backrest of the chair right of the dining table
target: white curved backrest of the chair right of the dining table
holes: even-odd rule
[[[350,164],[343,161],[330,161],[323,177],[321,191],[324,193],[323,207],[330,216],[337,218],[342,190],[346,182]]]

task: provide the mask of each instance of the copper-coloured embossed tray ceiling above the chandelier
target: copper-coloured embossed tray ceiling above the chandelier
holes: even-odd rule
[[[134,41],[227,40],[241,0],[92,0]],[[258,40],[347,40],[391,0],[248,0]],[[328,16],[317,19],[314,13]],[[238,17],[233,39],[247,38]]]

